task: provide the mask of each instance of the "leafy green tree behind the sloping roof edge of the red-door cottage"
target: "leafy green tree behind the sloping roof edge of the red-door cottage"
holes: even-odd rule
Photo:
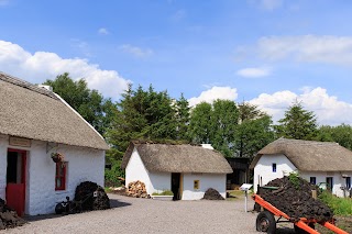
[[[114,112],[110,99],[103,99],[97,90],[90,90],[84,79],[74,81],[68,73],[59,75],[55,80],[46,80],[44,85],[53,87],[73,109],[75,109],[99,133],[103,134]]]

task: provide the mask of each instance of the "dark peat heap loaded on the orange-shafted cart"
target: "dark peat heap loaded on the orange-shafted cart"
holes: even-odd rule
[[[261,189],[260,196],[285,212],[293,221],[307,218],[324,222],[333,216],[328,205],[311,197],[311,190],[317,188],[299,177],[296,177],[294,182],[288,177],[274,179],[266,187],[279,187],[279,189]]]

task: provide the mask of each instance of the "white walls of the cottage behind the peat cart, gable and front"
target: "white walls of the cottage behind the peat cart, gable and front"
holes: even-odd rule
[[[276,172],[272,171],[272,165],[276,164]],[[288,175],[292,171],[297,171],[297,168],[288,160],[285,155],[263,155],[254,167],[254,192],[256,192],[256,186],[260,183],[262,178],[262,186],[265,186],[268,181],[282,178],[284,175]],[[352,177],[352,171],[332,171],[332,172],[320,172],[320,171],[298,171],[299,176],[307,181],[310,181],[310,177],[316,177],[316,183],[326,182],[327,177],[333,178],[332,193],[338,197],[343,197],[344,192],[341,187],[345,186],[345,179],[342,175]]]

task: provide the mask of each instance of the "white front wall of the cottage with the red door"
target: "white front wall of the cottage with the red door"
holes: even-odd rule
[[[53,213],[56,202],[75,196],[76,187],[82,181],[103,186],[105,151],[59,145],[57,152],[68,161],[66,190],[55,191],[55,163],[46,153],[46,143],[32,141],[30,148],[9,146],[9,137],[0,135],[0,197],[6,199],[7,151],[9,147],[28,152],[25,214]]]

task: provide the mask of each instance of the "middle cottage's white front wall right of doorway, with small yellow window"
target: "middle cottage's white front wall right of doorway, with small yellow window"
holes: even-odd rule
[[[227,197],[227,175],[226,174],[183,174],[184,188],[182,200],[202,199],[209,188],[213,188],[226,198]],[[199,180],[199,189],[194,189],[194,181]]]

